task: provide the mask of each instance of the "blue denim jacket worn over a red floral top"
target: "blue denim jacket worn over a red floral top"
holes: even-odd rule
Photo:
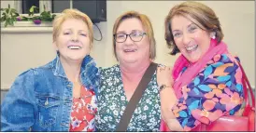
[[[90,56],[82,61],[80,79],[97,92],[99,73]],[[68,131],[72,88],[59,56],[21,73],[1,105],[1,131]]]

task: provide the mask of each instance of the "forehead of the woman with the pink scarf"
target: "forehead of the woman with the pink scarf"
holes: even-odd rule
[[[192,23],[199,26],[200,28],[203,28],[202,24],[199,23],[197,20],[193,19],[192,17],[190,16],[184,17],[181,15],[177,15],[173,17],[173,19],[171,20],[171,27],[172,27],[172,30],[179,30],[189,26]]]

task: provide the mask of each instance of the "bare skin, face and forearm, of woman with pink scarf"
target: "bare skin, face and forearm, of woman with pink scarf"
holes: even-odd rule
[[[197,25],[203,26],[192,18],[188,20],[182,16],[175,16],[171,23],[174,41],[181,54],[191,63],[200,60],[206,54],[212,36],[205,30],[200,29]],[[172,108],[178,101],[172,87],[174,84],[172,69],[172,67],[160,67],[157,72],[158,85],[167,86],[160,93],[162,114],[164,122],[172,131],[183,131],[183,127],[179,124],[174,113],[172,113]]]

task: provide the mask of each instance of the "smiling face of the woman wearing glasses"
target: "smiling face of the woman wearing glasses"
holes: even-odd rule
[[[119,39],[130,34],[122,42]],[[140,20],[136,18],[121,21],[116,33],[116,53],[121,64],[149,61],[149,38]],[[121,42],[121,43],[119,43]]]

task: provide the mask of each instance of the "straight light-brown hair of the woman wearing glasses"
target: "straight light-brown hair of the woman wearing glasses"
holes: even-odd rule
[[[116,41],[114,38],[114,34],[117,33],[117,30],[121,24],[121,21],[126,20],[126,19],[133,19],[136,18],[138,20],[141,21],[143,28],[146,30],[145,32],[147,33],[148,37],[149,37],[149,59],[154,60],[156,57],[156,42],[155,42],[155,38],[154,38],[154,31],[152,29],[152,24],[149,20],[149,18],[141,13],[138,13],[136,11],[128,11],[123,13],[116,21],[113,27],[113,47],[114,47],[114,54],[116,57],[116,60],[118,60],[117,58],[117,52],[116,52]]]

